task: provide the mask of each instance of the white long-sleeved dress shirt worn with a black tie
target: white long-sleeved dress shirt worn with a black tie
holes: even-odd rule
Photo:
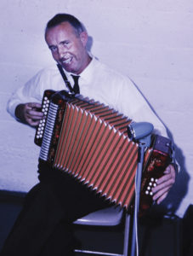
[[[71,73],[65,72],[73,86]],[[128,79],[97,59],[89,63],[80,74],[80,93],[94,101],[99,101],[123,113],[136,122],[145,121],[154,125],[156,132],[167,137],[166,129],[160,119],[151,110],[145,98]],[[58,67],[48,67],[37,73],[24,86],[16,90],[8,102],[8,112],[15,118],[14,111],[18,104],[26,102],[42,102],[44,90],[68,90]]]

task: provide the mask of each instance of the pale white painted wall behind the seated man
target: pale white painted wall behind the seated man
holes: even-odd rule
[[[193,203],[193,2],[191,0],[1,0],[0,189],[37,183],[34,130],[6,112],[10,94],[52,57],[43,39],[59,12],[76,15],[93,38],[92,52],[128,74],[167,125],[181,172],[167,199],[182,217]]]

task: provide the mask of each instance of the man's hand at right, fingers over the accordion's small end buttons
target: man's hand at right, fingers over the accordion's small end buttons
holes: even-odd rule
[[[164,174],[157,180],[156,187],[152,189],[154,193],[153,200],[157,204],[160,204],[167,197],[169,190],[172,188],[173,183],[175,183],[176,173],[173,165],[167,166]]]

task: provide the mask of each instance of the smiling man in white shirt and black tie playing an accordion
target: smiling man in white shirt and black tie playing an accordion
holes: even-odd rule
[[[148,121],[155,126],[155,132],[166,136],[164,126],[130,79],[88,53],[88,34],[79,20],[71,15],[55,15],[48,21],[45,40],[60,71],[55,66],[44,69],[14,93],[8,111],[16,119],[36,126],[43,119],[40,112],[43,91],[71,89],[64,83],[65,71],[71,84],[73,75],[80,76],[82,96],[103,102],[135,121]],[[46,164],[39,164],[38,172],[40,183],[26,196],[24,209],[2,255],[70,255],[73,247],[71,223],[89,212],[109,206],[94,192]],[[169,165],[153,189],[153,199],[157,203],[167,196],[174,181],[175,170]]]

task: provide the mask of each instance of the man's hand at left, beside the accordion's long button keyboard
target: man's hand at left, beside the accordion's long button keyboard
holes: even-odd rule
[[[37,126],[43,119],[41,108],[41,104],[36,102],[20,104],[15,108],[15,116],[28,125]]]

